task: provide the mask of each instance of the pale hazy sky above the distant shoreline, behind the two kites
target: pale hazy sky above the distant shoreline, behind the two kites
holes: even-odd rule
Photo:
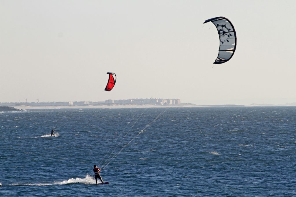
[[[0,102],[296,102],[296,1],[0,0]],[[228,18],[234,56],[213,64]],[[104,91],[107,72],[117,81]]]

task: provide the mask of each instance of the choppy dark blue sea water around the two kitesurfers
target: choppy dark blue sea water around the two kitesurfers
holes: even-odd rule
[[[0,196],[296,196],[295,137],[295,107],[0,112]]]

